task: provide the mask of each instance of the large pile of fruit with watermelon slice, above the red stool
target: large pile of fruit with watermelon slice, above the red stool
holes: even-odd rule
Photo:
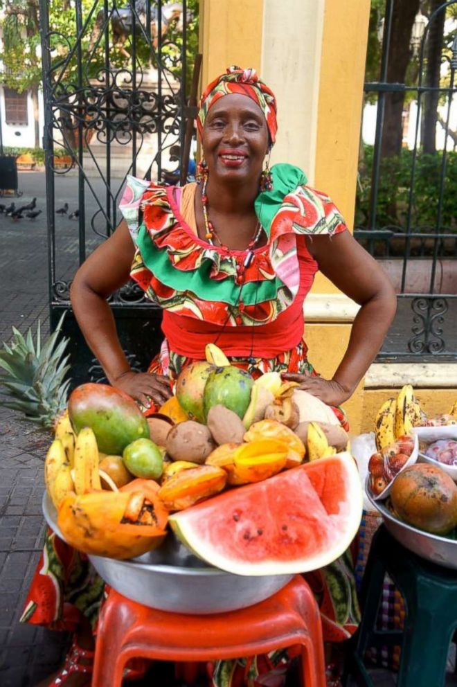
[[[296,386],[254,381],[208,346],[147,419],[110,386],[78,387],[45,463],[62,535],[129,558],[170,524],[211,564],[249,574],[334,560],[361,517],[357,467],[333,411]]]

